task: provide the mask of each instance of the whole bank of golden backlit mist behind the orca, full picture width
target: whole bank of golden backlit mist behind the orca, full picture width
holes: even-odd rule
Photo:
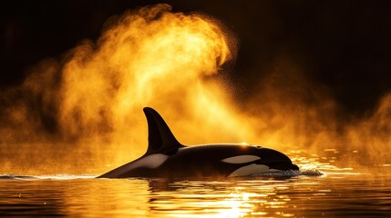
[[[233,99],[230,84],[215,75],[234,58],[234,46],[211,18],[172,13],[169,5],[110,19],[97,43],[85,40],[61,61],[37,64],[22,86],[0,94],[1,169],[104,173],[127,163],[147,147],[145,106],[183,144],[245,141],[324,152],[328,163],[359,155],[381,163],[390,155],[383,151],[391,141],[391,94],[369,118],[339,124],[331,96],[282,55],[249,98]]]

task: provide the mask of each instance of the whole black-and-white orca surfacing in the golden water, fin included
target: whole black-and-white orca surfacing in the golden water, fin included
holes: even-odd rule
[[[148,121],[147,153],[98,178],[162,177],[202,178],[246,176],[279,170],[298,170],[288,156],[248,144],[184,146],[152,108],[144,108]]]

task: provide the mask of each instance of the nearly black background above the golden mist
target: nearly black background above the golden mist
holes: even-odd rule
[[[391,91],[391,1],[1,1],[0,90],[23,82],[31,65],[60,59],[108,17],[140,5],[211,15],[238,37],[232,81],[251,92],[284,54],[331,90],[347,114],[365,114]]]

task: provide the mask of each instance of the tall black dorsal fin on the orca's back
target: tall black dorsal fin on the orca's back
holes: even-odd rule
[[[145,107],[144,114],[148,122],[148,150],[144,155],[165,153],[183,147],[158,112],[150,107]]]

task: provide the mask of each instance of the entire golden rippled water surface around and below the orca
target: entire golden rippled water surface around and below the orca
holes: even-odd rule
[[[211,181],[8,175],[8,179],[0,179],[0,215],[390,217],[389,166],[363,173],[352,167],[337,167],[328,160],[338,158],[327,156],[325,160],[324,154],[294,151],[289,155],[302,169],[310,170],[293,177]],[[314,176],[311,167],[324,175]]]

